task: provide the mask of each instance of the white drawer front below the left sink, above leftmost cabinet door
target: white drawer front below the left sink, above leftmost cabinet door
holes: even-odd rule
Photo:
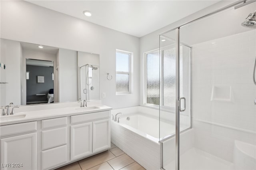
[[[17,123],[13,125],[4,125],[0,126],[0,137],[20,134],[25,132],[34,132],[37,130],[37,123],[34,122],[26,122],[26,123]]]

